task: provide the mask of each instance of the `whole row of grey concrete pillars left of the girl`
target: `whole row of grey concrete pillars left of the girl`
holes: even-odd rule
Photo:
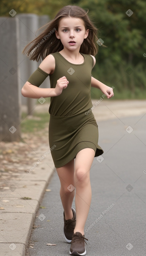
[[[24,98],[21,88],[39,63],[22,54],[23,48],[35,38],[38,28],[48,22],[48,16],[20,14],[0,17],[0,140],[20,140],[21,105],[28,114],[37,99]],[[49,77],[41,87],[48,88]]]

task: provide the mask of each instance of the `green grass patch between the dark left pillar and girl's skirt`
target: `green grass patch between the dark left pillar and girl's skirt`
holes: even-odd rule
[[[33,133],[44,129],[49,123],[49,113],[34,113],[33,116],[22,113],[22,133]]]

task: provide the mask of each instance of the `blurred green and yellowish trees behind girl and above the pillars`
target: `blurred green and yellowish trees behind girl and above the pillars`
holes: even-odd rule
[[[145,98],[145,0],[2,0],[0,16],[10,17],[8,11],[14,9],[17,14],[48,15],[53,19],[65,5],[88,8],[91,20],[99,29],[98,38],[107,46],[99,46],[92,75],[115,87],[113,99]],[[92,91],[92,98],[100,96],[98,90],[93,88]]]

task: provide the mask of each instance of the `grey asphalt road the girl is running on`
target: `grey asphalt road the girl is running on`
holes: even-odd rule
[[[146,114],[101,121],[104,154],[91,168],[92,203],[86,221],[87,256],[146,255]],[[127,128],[128,127],[128,128]],[[103,159],[104,158],[104,159]],[[60,183],[54,172],[37,216],[30,256],[68,256],[63,238]],[[73,207],[75,202],[73,202]],[[41,215],[40,217],[42,217]],[[95,221],[96,220],[96,221]],[[46,243],[56,244],[47,246]]]

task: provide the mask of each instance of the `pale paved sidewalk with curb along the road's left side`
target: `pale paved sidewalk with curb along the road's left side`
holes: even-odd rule
[[[1,191],[1,256],[25,256],[36,213],[54,170],[49,154],[32,172],[23,173],[19,181]]]

